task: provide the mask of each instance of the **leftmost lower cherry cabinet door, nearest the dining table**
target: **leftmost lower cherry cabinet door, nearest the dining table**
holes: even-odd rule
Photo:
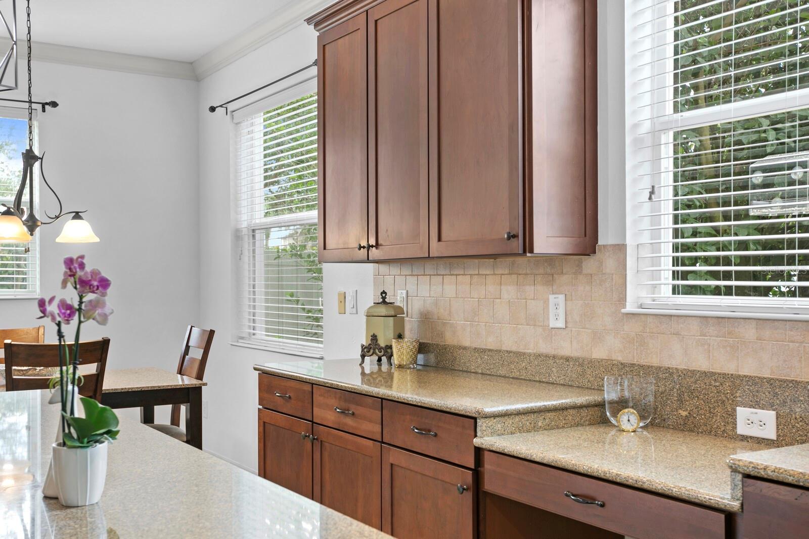
[[[260,477],[311,498],[311,431],[311,422],[259,408]]]

